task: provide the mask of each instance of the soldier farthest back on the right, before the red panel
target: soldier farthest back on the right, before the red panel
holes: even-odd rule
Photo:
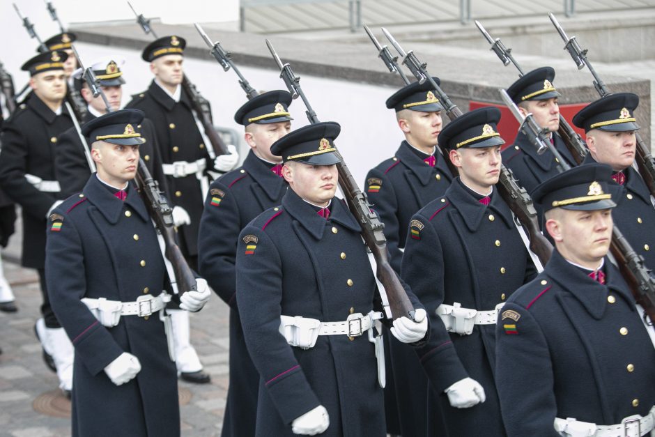
[[[564,140],[557,133],[560,129],[560,105],[557,98],[560,92],[553,86],[555,70],[541,67],[527,72],[511,84],[507,94],[514,100],[518,110],[525,116],[532,114],[534,121],[541,128],[550,130],[550,142],[570,167],[577,165]],[[502,161],[511,169],[518,182],[527,192],[534,190],[540,183],[559,174],[558,162],[553,152],[548,149],[539,155],[537,149],[523,134],[518,132],[514,144],[502,152]]]

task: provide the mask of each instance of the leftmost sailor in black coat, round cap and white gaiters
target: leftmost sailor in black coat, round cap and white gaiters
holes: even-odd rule
[[[59,386],[70,393],[72,346],[52,312],[45,281],[45,222],[61,203],[61,188],[55,179],[54,157],[57,137],[72,126],[71,115],[63,107],[66,53],[56,50],[38,54],[24,63],[29,71],[32,96],[3,123],[0,154],[0,185],[22,206],[22,265],[36,268],[39,275],[43,319],[37,323],[39,339],[52,355]]]

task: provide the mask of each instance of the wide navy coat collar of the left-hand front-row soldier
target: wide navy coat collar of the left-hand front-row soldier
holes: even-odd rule
[[[118,220],[121,218],[121,213],[123,212],[123,204],[130,206],[130,208],[132,208],[132,210],[134,210],[134,212],[136,212],[144,222],[150,218],[146,206],[141,200],[141,197],[139,197],[139,193],[132,182],[128,184],[128,197],[125,201],[122,201],[114,196],[114,194],[111,194],[111,192],[107,190],[107,187],[98,180],[98,176],[96,176],[95,173],[88,178],[88,182],[84,186],[83,192],[88,201],[98,208],[100,213],[102,213],[111,224],[118,223]]]

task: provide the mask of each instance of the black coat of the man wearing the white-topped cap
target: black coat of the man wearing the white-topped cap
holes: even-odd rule
[[[93,118],[95,116],[91,112],[86,112],[84,123],[88,123]],[[140,125],[134,126],[134,130],[141,133],[141,137],[146,139],[146,142],[139,146],[141,159],[146,163],[146,167],[148,167],[148,171],[150,171],[155,181],[160,184],[160,190],[166,192],[167,183],[162,171],[159,149],[156,146],[157,136],[155,135],[153,123],[146,118]],[[93,140],[86,138],[86,144],[91,150]],[[59,135],[54,166],[63,197],[82,191],[86,181],[88,181],[88,176],[91,175],[91,170],[88,168],[86,155],[84,149],[82,149],[82,141],[79,141],[79,135],[75,127]]]

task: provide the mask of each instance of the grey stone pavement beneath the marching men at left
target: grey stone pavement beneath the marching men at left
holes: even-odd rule
[[[20,229],[20,220],[16,227]],[[4,271],[19,311],[0,312],[0,437],[66,437],[70,436],[70,418],[37,413],[33,405],[41,394],[55,390],[58,380],[45,367],[40,344],[33,333],[40,314],[38,276],[36,270],[22,268],[17,263],[20,238],[18,232],[2,252]],[[191,342],[212,382],[194,385],[180,381],[180,393],[190,395],[188,403],[180,408],[182,436],[220,435],[228,385],[228,318],[229,309],[217,296],[201,312],[191,316]]]

